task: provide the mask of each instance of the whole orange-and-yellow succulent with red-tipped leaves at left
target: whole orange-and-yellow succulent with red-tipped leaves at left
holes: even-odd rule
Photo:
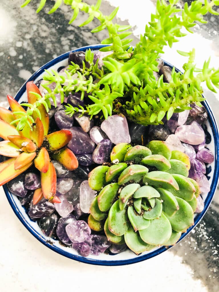
[[[30,105],[41,97],[33,81],[27,82],[27,98]],[[56,194],[56,172],[51,158],[58,160],[68,170],[78,167],[74,153],[65,147],[72,138],[68,130],[48,134],[49,117],[43,104],[28,115],[22,131],[18,131],[20,117],[27,116],[27,111],[11,96],[7,96],[11,111],[0,107],[0,155],[11,157],[0,163],[0,186],[8,183],[26,171],[33,164],[41,173],[41,188],[36,189],[34,204],[44,196],[54,203],[60,203]],[[40,118],[39,118],[40,117]]]

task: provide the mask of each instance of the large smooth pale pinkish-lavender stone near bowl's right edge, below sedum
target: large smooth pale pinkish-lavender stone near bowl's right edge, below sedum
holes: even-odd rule
[[[195,121],[190,125],[179,126],[175,131],[175,135],[180,139],[180,141],[191,145],[200,144],[205,139],[204,130]]]

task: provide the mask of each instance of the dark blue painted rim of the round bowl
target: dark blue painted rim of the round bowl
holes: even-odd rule
[[[55,65],[57,62],[60,62],[62,60],[65,60],[66,58],[68,58],[69,53],[71,52],[77,52],[77,51],[86,51],[87,49],[91,48],[92,51],[95,50],[99,50],[100,48],[104,47],[105,45],[91,45],[91,46],[85,46],[85,47],[81,47],[81,48],[77,48],[75,50],[69,51],[67,53],[64,53],[58,57],[56,57],[55,59],[49,61],[48,63],[46,63],[44,66],[42,66],[41,68],[39,68],[26,82],[25,84],[20,88],[20,90],[18,91],[18,93],[15,96],[15,100],[19,100],[22,96],[22,94],[26,91],[26,84],[28,81],[32,81],[35,80],[37,77],[39,77],[39,75],[41,73],[44,72],[45,69],[49,69],[51,66]],[[171,65],[170,63],[164,61],[165,65],[173,68],[173,65]],[[175,70],[177,72],[179,72],[180,70],[175,68]],[[214,168],[214,174],[213,174],[213,180],[212,180],[212,184],[211,184],[211,190],[208,193],[208,196],[205,200],[205,205],[204,205],[204,210],[199,213],[194,220],[194,225],[192,225],[187,232],[183,233],[182,236],[180,237],[180,239],[178,240],[181,241],[201,220],[201,218],[204,216],[204,214],[206,213],[209,205],[211,204],[211,201],[213,199],[215,190],[217,188],[217,184],[218,184],[218,178],[219,178],[219,164],[218,164],[218,157],[219,157],[219,135],[218,135],[218,126],[216,124],[215,121],[215,117],[213,115],[213,112],[210,108],[210,106],[208,105],[208,103],[206,101],[203,102],[203,105],[206,107],[206,110],[208,112],[208,121],[211,125],[211,129],[212,129],[212,133],[213,133],[213,137],[215,140],[215,168]],[[155,251],[152,251],[150,253],[147,253],[145,255],[139,255],[136,256],[135,258],[132,259],[126,259],[126,260],[116,260],[116,261],[111,261],[111,260],[96,260],[96,259],[91,259],[91,258],[85,258],[82,256],[77,256],[77,255],[73,255],[71,253],[67,252],[67,248],[66,251],[63,251],[62,249],[53,246],[52,244],[49,243],[49,241],[47,239],[44,239],[42,234],[39,234],[38,232],[36,232],[36,230],[34,230],[34,228],[25,220],[25,218],[22,216],[22,213],[20,212],[19,208],[16,206],[15,201],[13,199],[12,194],[8,191],[7,185],[3,185],[4,188],[4,192],[6,194],[6,197],[8,199],[9,204],[11,205],[15,215],[18,217],[18,219],[20,220],[20,222],[27,228],[27,230],[36,238],[38,239],[42,244],[44,244],[45,246],[47,246],[48,248],[52,249],[53,251],[59,253],[62,256],[65,256],[67,258],[71,258],[73,260],[77,260],[79,262],[82,263],[88,263],[88,264],[92,264],[92,265],[104,265],[104,266],[117,266],[117,265],[128,265],[128,264],[133,264],[133,263],[138,263],[141,262],[143,260],[147,260],[149,258],[153,258],[154,256],[157,256],[160,253],[163,253],[164,251],[168,250],[170,247],[165,247],[165,246],[161,246],[160,248],[156,249]]]

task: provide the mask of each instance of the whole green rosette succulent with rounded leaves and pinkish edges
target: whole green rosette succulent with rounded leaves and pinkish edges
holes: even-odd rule
[[[189,157],[163,141],[148,147],[117,144],[111,166],[94,168],[88,177],[93,199],[88,217],[92,230],[104,230],[114,244],[127,244],[137,255],[155,246],[174,245],[194,224],[200,194],[188,177]]]

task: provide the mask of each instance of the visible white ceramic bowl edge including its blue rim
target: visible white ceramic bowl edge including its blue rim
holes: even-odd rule
[[[103,46],[102,45],[94,45],[94,46],[79,48],[79,49],[74,50],[72,52],[86,51],[86,49],[88,49],[88,48],[91,48],[92,51],[96,51],[96,50],[100,49],[101,47],[103,47]],[[36,82],[36,81],[42,79],[42,77],[44,75],[44,69],[53,69],[53,70],[57,71],[57,69],[59,67],[67,66],[68,65],[68,55],[69,55],[69,52],[65,53],[63,55],[60,55],[59,57],[48,62],[43,67],[41,67],[38,71],[36,71],[32,75],[32,77],[30,77],[29,80],[27,80],[27,82],[31,81],[31,80]],[[165,65],[173,67],[168,62],[165,62]],[[176,69],[176,70],[178,70],[178,69]],[[19,102],[27,101],[26,83],[20,88],[15,99]],[[219,174],[218,128],[217,128],[213,113],[212,113],[208,103],[204,101],[203,104],[206,107],[207,112],[208,112],[208,120],[206,121],[206,131],[208,132],[208,136],[211,138],[211,142],[207,145],[207,147],[212,151],[212,153],[215,156],[215,161],[211,164],[208,164],[208,167],[207,167],[207,175],[208,175],[208,179],[209,179],[209,182],[211,185],[211,190],[208,194],[202,193],[202,197],[203,197],[204,203],[205,203],[204,210],[201,213],[195,215],[194,225],[192,227],[190,227],[186,233],[182,234],[179,241],[181,239],[183,239],[197,225],[199,220],[201,220],[201,218],[204,216],[205,212],[208,209],[208,206],[210,205],[210,203],[213,199],[213,195],[215,193],[217,183],[218,183],[218,174]],[[13,208],[13,211],[15,212],[15,214],[17,215],[19,220],[22,222],[22,224],[27,228],[27,230],[29,230],[29,232],[31,232],[34,235],[34,237],[36,237],[36,239],[41,241],[44,245],[51,248],[53,251],[60,253],[61,255],[66,256],[68,258],[72,258],[72,259],[78,260],[80,262],[90,263],[90,264],[94,264],[94,265],[127,265],[127,264],[136,263],[136,262],[140,262],[142,260],[152,258],[152,257],[167,250],[166,247],[161,246],[161,247],[154,248],[152,251],[144,252],[139,256],[136,256],[132,251],[127,250],[125,252],[122,252],[122,253],[114,255],[114,256],[107,255],[107,254],[103,253],[103,254],[100,254],[99,256],[90,255],[90,256],[84,258],[82,256],[79,256],[77,254],[77,252],[74,249],[72,249],[71,247],[62,246],[58,240],[55,240],[51,237],[46,237],[41,232],[37,223],[32,221],[28,217],[28,215],[26,213],[26,209],[23,206],[21,206],[19,199],[15,195],[11,194],[8,191],[8,188],[6,185],[4,185],[3,187],[4,187],[4,191],[6,193],[6,197],[9,201],[11,207]]]

